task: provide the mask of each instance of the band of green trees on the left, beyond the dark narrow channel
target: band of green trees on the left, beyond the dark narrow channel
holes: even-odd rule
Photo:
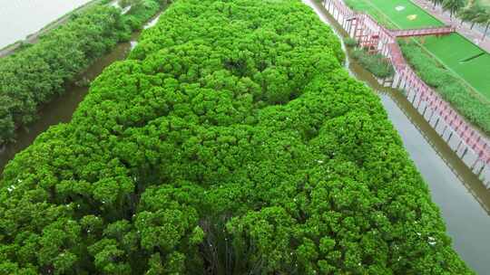
[[[125,15],[112,6],[95,5],[73,14],[38,43],[0,59],[0,147],[15,138],[16,127],[35,119],[41,104],[63,93],[66,82],[142,27],[159,5],[145,0]]]

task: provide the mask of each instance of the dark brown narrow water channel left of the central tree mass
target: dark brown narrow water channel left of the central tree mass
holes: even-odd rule
[[[154,24],[153,21],[160,16],[159,13],[150,19],[148,24]],[[129,52],[136,44],[141,32],[132,33],[131,41],[117,44],[111,52],[105,54],[102,58],[93,62],[93,64],[78,77],[83,82],[93,81],[105,67],[113,62],[121,61],[126,58]],[[68,85],[63,96],[58,97],[44,105],[39,111],[39,119],[32,124],[19,128],[16,131],[16,142],[9,143],[5,147],[0,148],[0,177],[2,171],[9,160],[13,159],[15,154],[25,149],[34,142],[35,137],[42,134],[50,126],[58,123],[68,122],[72,119],[74,110],[87,94],[89,87],[86,85],[77,86],[72,83]]]

